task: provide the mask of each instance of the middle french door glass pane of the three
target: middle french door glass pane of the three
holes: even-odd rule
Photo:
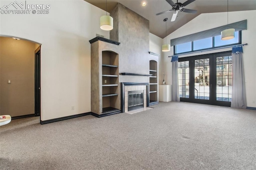
[[[209,58],[195,60],[195,99],[209,100]]]

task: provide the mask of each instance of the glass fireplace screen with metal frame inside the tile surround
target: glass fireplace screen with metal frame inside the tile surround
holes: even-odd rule
[[[128,111],[144,107],[143,90],[128,91]]]

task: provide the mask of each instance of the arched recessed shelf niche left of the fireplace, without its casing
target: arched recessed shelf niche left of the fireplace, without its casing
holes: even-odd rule
[[[120,111],[118,54],[102,51],[102,113]]]

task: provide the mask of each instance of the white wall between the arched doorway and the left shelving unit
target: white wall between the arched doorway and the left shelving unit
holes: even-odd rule
[[[0,1],[0,7],[13,1]],[[18,1],[23,2],[23,1]],[[0,36],[41,46],[41,120],[90,112],[90,43],[106,14],[83,0],[30,0],[50,4],[49,14],[0,14]],[[71,106],[75,110],[71,110]]]

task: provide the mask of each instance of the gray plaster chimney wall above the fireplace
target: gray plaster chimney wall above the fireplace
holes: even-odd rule
[[[110,12],[110,40],[120,42],[119,73],[149,74],[149,21],[122,4]],[[149,77],[119,75],[120,82],[149,82]]]

